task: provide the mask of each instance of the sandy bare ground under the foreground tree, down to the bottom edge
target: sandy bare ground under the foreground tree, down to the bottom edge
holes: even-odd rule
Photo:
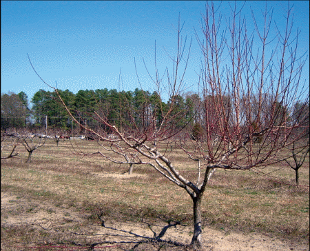
[[[90,223],[90,214],[1,192],[1,250],[90,247],[92,250],[187,250],[192,225],[162,219],[120,221],[108,216]],[[258,233],[242,234],[206,227],[206,250],[309,250],[309,243],[285,241]],[[63,248],[64,249],[64,248]],[[69,248],[70,250],[70,248]]]

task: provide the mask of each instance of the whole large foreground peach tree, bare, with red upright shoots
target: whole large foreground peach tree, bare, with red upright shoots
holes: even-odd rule
[[[199,86],[203,90],[203,135],[199,139],[191,137],[189,123],[178,123],[186,113],[180,109],[180,95],[190,50],[189,46],[185,54],[186,39],[183,41],[180,36],[180,21],[176,56],[170,57],[174,63],[172,74],[166,70],[159,75],[156,53],[155,76],[149,74],[158,93],[157,105],[145,101],[139,110],[133,110],[128,103],[122,113],[127,114],[130,123],[121,128],[100,109],[92,113],[94,119],[109,128],[113,138],[105,131],[79,123],[59,95],[73,121],[101,144],[102,150],[92,154],[119,164],[149,165],[189,194],[194,214],[191,245],[197,250],[203,248],[200,205],[210,174],[216,168],[249,170],[276,163],[277,154],[309,130],[309,124],[302,127],[300,121],[289,117],[294,102],[309,99],[309,89],[302,88],[300,79],[304,57],[298,54],[299,32],[291,33],[291,8],[287,10],[285,30],[277,29],[276,33],[271,30],[272,9],[266,6],[262,24],[256,23],[252,13],[256,30],[250,33],[241,10],[235,4],[231,17],[224,22],[219,9],[207,3],[201,23],[203,37],[196,32],[202,53]],[[254,43],[256,36],[259,44]],[[34,72],[39,76],[35,69]],[[169,95],[165,106],[162,90]],[[193,117],[198,110],[201,109]],[[293,133],[297,129],[300,134]],[[197,163],[194,179],[186,167],[182,172],[175,168],[168,154],[172,144],[178,144]]]

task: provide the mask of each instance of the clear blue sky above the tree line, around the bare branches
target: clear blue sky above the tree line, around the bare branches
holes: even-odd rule
[[[274,8],[273,19],[281,25],[287,1],[267,4]],[[291,4],[294,26],[302,31],[300,53],[309,52],[309,1]],[[245,4],[248,27],[254,29],[249,26],[250,7],[260,14],[265,1]],[[166,66],[172,70],[165,50],[171,54],[176,50],[178,13],[185,21],[183,35],[188,41],[193,38],[185,83],[189,90],[196,90],[195,71],[199,70],[201,56],[194,28],[200,32],[203,12],[205,1],[1,1],[1,93],[23,91],[31,100],[39,89],[51,91],[32,70],[27,53],[45,81],[51,85],[57,81],[59,89],[74,93],[85,89],[119,90],[120,70],[125,90],[141,88],[134,68],[136,58],[142,88],[152,91],[154,85],[143,58],[154,72],[156,40],[160,73]],[[227,1],[222,3],[221,12],[229,13]],[[309,59],[302,77],[309,83]]]

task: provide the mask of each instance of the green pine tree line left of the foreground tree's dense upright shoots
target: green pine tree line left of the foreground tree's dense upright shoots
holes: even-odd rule
[[[167,113],[167,105],[174,103],[173,112],[176,115],[176,127],[180,128],[192,119],[195,106],[199,106],[198,94],[187,94],[172,97],[163,102],[157,92],[152,94],[148,91],[136,90],[118,92],[115,89],[107,90],[79,90],[76,94],[69,90],[59,90],[61,98],[68,106],[74,117],[90,127],[104,125],[93,119],[94,111],[99,111],[101,116],[116,126],[129,127],[134,121],[136,126],[145,123],[160,124],[163,114]],[[68,113],[63,109],[56,92],[39,90],[31,99],[32,108],[29,108],[28,97],[24,92],[14,94],[1,94],[1,129],[6,128],[44,128],[46,123],[49,128],[70,130],[72,125]],[[178,116],[183,110],[187,110],[187,116]],[[46,121],[48,119],[48,121]]]

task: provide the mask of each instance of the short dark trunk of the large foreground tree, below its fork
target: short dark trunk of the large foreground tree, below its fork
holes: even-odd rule
[[[201,212],[200,212],[200,202],[201,197],[192,197],[193,200],[193,210],[194,210],[194,234],[192,238],[192,248],[194,250],[201,250],[203,248],[203,237],[201,228]]]

